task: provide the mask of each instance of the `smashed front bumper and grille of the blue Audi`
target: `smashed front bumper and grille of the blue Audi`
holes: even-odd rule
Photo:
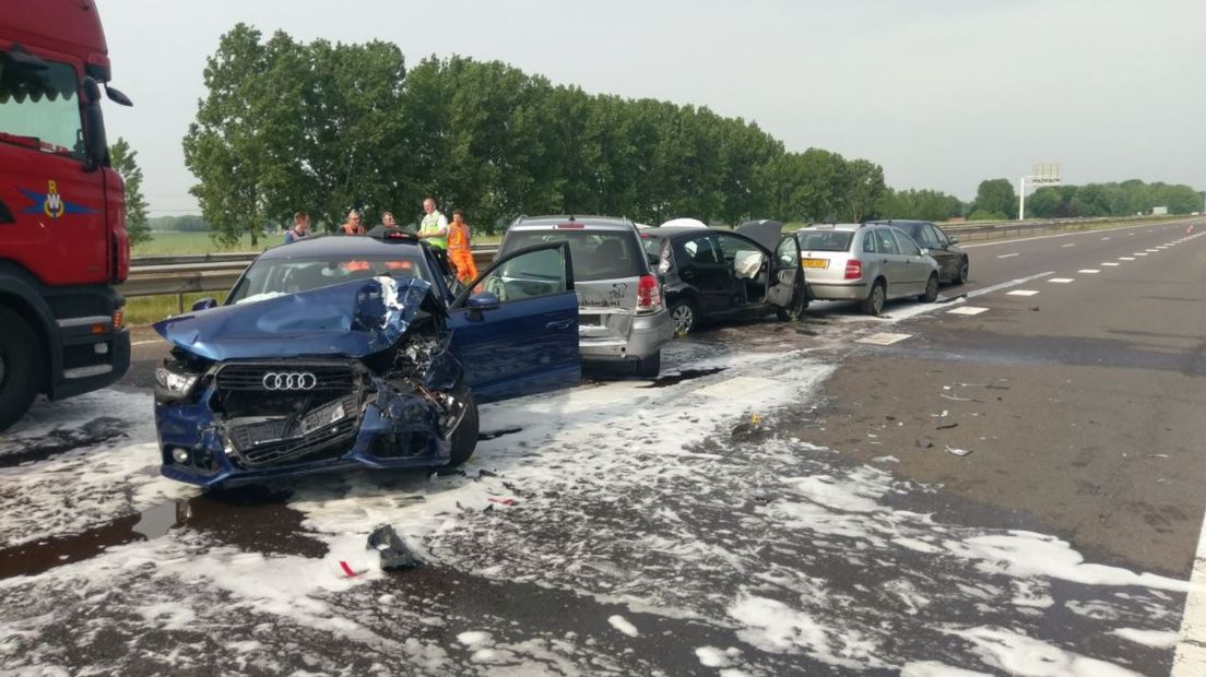
[[[156,404],[163,475],[210,488],[445,465],[469,400],[455,366],[435,390],[351,359],[219,363],[194,396]]]

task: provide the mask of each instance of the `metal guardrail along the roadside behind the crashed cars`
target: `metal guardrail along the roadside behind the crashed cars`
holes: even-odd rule
[[[1182,217],[1183,218],[1183,217]],[[1177,217],[1169,217],[1176,220]],[[1096,223],[1128,223],[1146,220],[1169,220],[1161,217],[1125,217],[1125,218],[1075,218],[1075,219],[1030,219],[1005,222],[970,222],[939,224],[947,232],[961,240],[1008,237],[1028,232],[1048,230],[1072,230]],[[485,266],[494,260],[498,247],[478,246],[473,248],[474,261]],[[124,296],[152,296],[175,294],[177,306],[183,305],[183,294],[199,292],[224,292],[229,289],[242,270],[247,267],[257,253],[236,254],[197,254],[197,255],[158,255],[133,259],[130,277],[118,290]]]

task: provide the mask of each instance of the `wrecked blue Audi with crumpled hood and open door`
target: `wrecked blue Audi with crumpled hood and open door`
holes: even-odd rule
[[[449,466],[478,404],[576,385],[578,296],[564,243],[461,285],[399,229],[269,249],[223,305],[154,325],[163,473],[206,488],[346,467]]]

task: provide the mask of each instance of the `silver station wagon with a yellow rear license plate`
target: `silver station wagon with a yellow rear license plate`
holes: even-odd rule
[[[938,263],[898,228],[814,224],[795,235],[812,299],[860,301],[876,316],[889,299],[938,299]]]

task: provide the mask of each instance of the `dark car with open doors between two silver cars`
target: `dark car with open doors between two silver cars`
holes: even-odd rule
[[[736,231],[715,228],[649,228],[645,252],[656,257],[674,331],[701,322],[774,312],[798,318],[808,306],[800,248],[783,224],[749,222]]]

